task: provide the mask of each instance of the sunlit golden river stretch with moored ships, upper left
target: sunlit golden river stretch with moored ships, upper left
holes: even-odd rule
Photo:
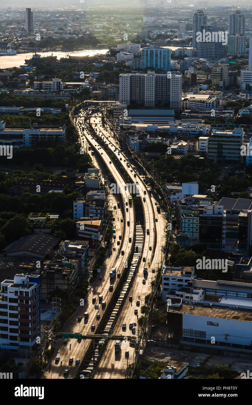
[[[66,55],[70,56],[94,56],[94,55],[105,55],[108,49],[85,49],[83,51],[76,51],[76,52],[39,52],[41,58],[43,56],[49,56],[53,54],[53,56],[57,55],[57,59],[64,58]],[[6,68],[14,68],[19,67],[25,64],[25,59],[32,58],[34,52],[31,53],[17,53],[17,55],[13,56],[0,56],[0,69]]]

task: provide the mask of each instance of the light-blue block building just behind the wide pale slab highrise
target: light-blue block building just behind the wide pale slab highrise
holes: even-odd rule
[[[166,72],[171,70],[171,50],[168,48],[142,48],[141,50],[142,69],[162,69]]]

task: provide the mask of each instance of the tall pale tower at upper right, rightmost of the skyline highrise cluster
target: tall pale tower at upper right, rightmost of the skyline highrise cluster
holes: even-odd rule
[[[236,10],[229,14],[228,54],[244,55],[246,50],[245,14]]]

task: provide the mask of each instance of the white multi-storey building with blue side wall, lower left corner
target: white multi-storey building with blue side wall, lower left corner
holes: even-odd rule
[[[1,282],[0,348],[31,356],[40,336],[40,276],[16,274]]]

